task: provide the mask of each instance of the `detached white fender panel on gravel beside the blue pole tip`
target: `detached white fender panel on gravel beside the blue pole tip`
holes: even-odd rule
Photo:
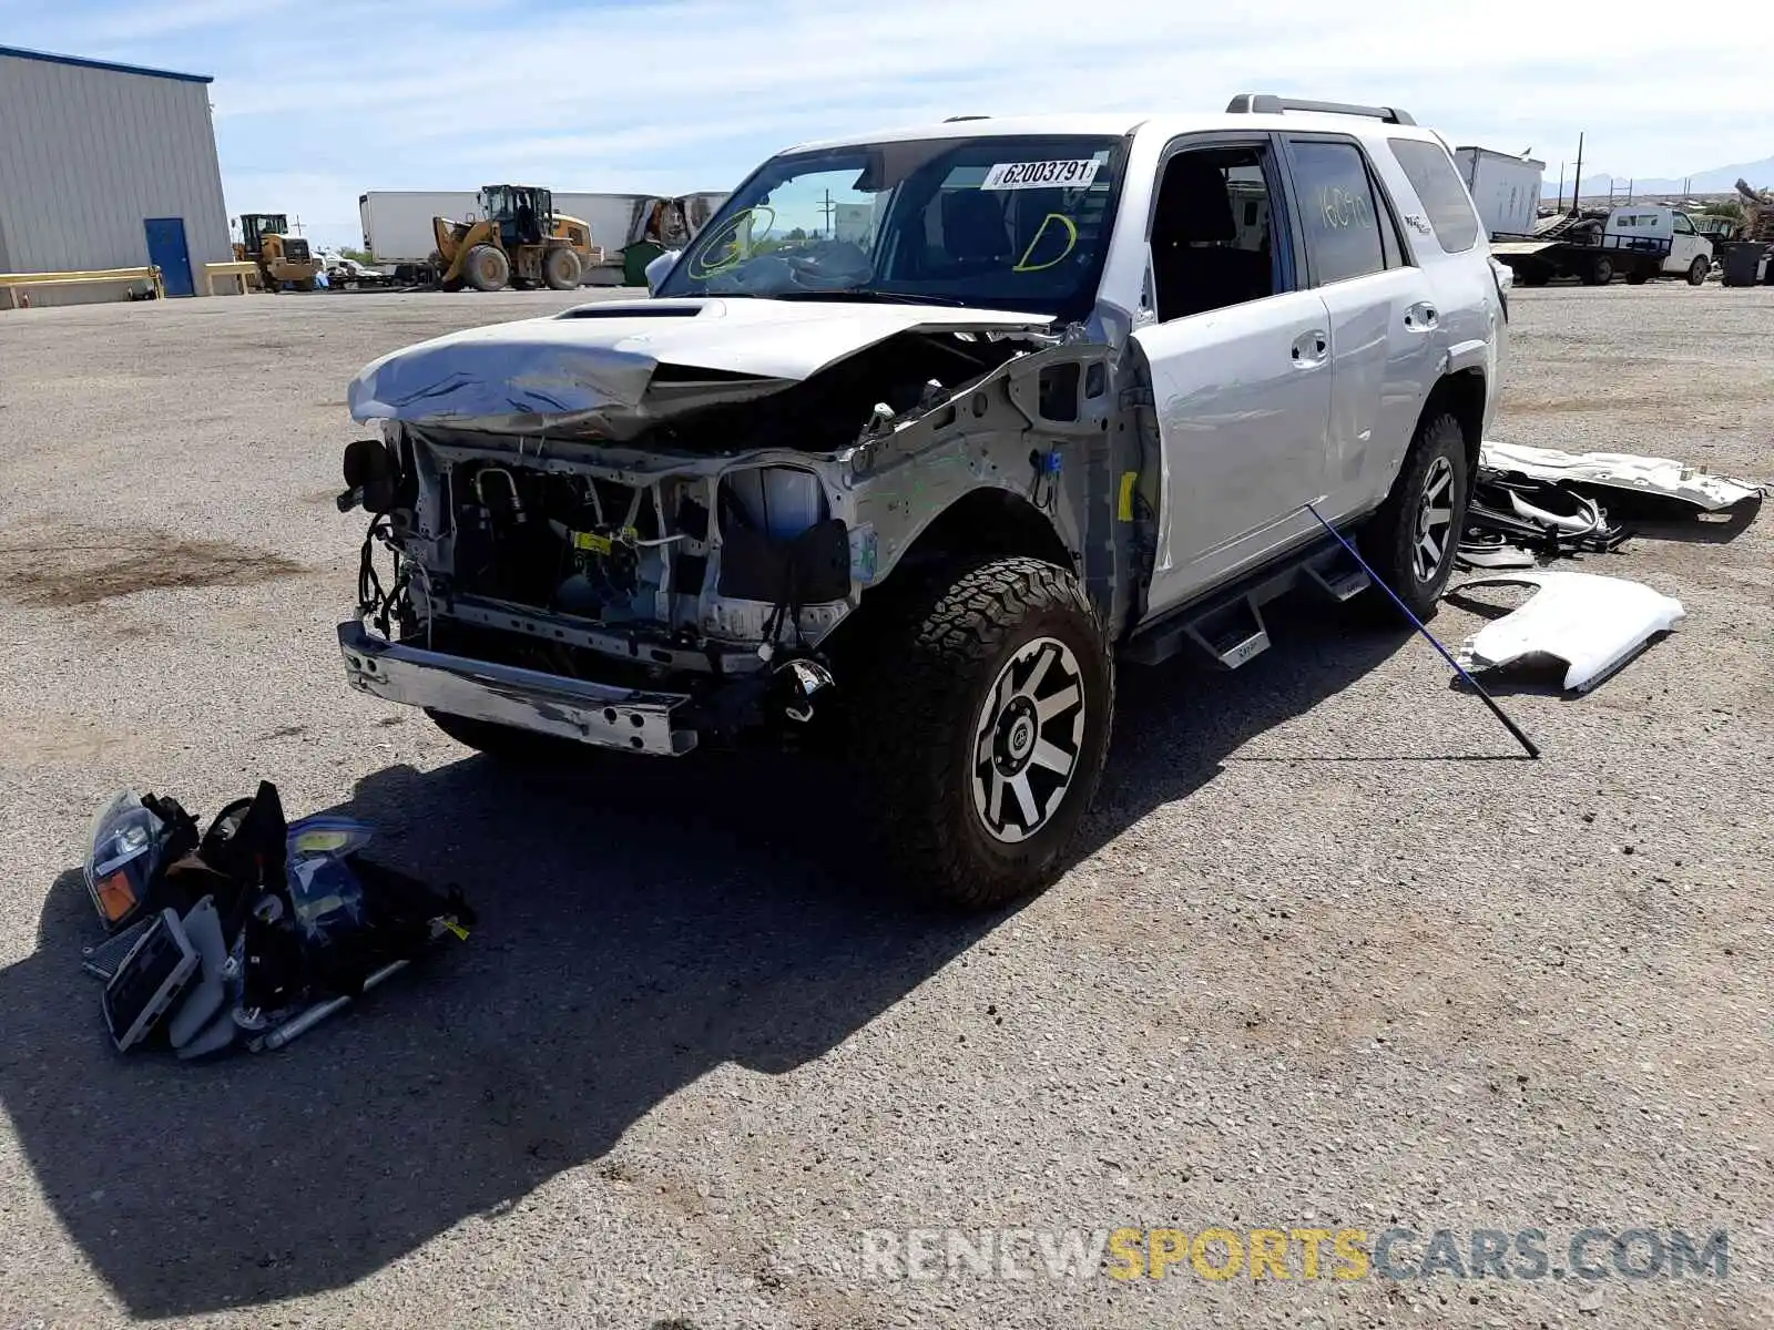
[[[1469,587],[1538,587],[1527,605],[1469,637],[1458,660],[1469,670],[1515,661],[1565,661],[1565,688],[1588,692],[1611,676],[1657,633],[1675,628],[1682,601],[1641,582],[1593,573],[1497,573],[1462,582]]]

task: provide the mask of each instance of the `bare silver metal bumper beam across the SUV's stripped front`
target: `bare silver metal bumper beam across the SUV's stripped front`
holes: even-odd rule
[[[685,693],[612,688],[399,645],[371,637],[355,619],[339,624],[339,649],[351,686],[387,702],[656,757],[681,757],[695,747],[695,731],[678,718],[690,700]]]

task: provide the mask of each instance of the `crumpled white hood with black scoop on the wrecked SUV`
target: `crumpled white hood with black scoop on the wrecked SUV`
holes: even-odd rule
[[[353,420],[630,438],[674,410],[779,392],[905,332],[1029,332],[1045,314],[875,301],[626,300],[435,337],[365,365]],[[669,365],[669,387],[653,383]],[[651,390],[651,392],[649,392]]]

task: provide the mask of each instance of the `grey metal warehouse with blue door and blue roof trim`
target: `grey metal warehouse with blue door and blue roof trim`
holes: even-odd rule
[[[234,257],[209,82],[0,46],[0,273],[158,264],[169,296],[208,294],[204,264]],[[32,287],[30,301],[122,294]]]

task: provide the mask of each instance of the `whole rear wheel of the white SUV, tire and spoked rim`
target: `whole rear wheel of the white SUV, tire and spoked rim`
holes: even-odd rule
[[[1362,532],[1362,557],[1417,619],[1433,617],[1453,576],[1471,486],[1460,422],[1448,413],[1428,417],[1417,426],[1393,493]],[[1377,603],[1385,592],[1370,596]]]

